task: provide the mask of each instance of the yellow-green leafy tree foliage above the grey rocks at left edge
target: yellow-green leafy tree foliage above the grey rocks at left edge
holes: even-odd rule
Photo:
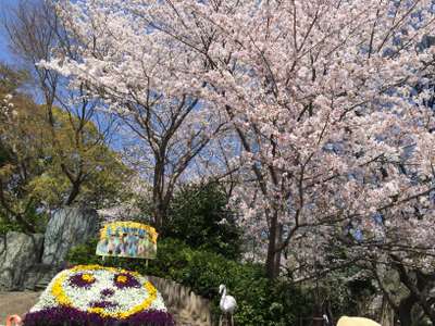
[[[47,108],[22,91],[25,82],[25,72],[0,63],[0,223],[38,231],[42,212],[71,193],[96,208],[117,200],[130,171],[92,122],[53,108],[51,125]]]

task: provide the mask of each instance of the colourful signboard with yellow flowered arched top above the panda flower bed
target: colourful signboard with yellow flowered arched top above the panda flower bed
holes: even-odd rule
[[[136,222],[113,222],[100,230],[96,254],[154,259],[159,234],[149,225]]]

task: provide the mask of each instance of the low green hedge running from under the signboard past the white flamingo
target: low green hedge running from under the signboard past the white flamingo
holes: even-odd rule
[[[236,325],[295,325],[298,316],[310,313],[312,303],[298,289],[282,280],[269,280],[261,265],[243,264],[203,250],[194,250],[177,239],[159,241],[157,260],[146,266],[142,260],[95,255],[97,241],[70,252],[73,264],[103,264],[173,279],[196,293],[212,299],[219,313],[219,285],[225,284],[238,303]]]

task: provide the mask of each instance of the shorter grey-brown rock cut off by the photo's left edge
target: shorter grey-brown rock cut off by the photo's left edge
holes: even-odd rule
[[[44,235],[10,231],[0,237],[0,289],[21,290],[27,273],[39,262]]]

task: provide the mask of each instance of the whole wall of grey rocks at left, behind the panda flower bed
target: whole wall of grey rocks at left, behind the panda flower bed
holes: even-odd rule
[[[52,214],[44,235],[0,236],[0,290],[44,289],[64,267],[69,250],[96,237],[98,226],[95,210],[65,208]]]

